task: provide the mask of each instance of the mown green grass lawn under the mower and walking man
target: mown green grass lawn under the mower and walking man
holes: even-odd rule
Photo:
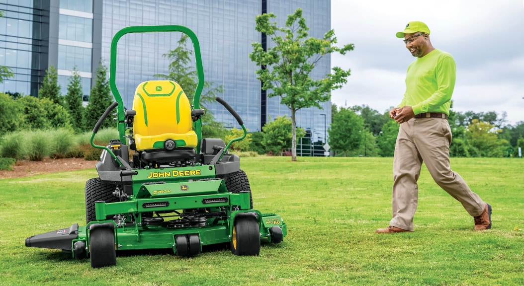
[[[288,224],[278,245],[238,257],[219,246],[193,258],[117,252],[92,269],[58,250],[25,247],[35,234],[85,225],[94,169],[0,180],[0,285],[524,285],[524,160],[455,159],[493,206],[473,218],[423,168],[413,233],[377,235],[391,218],[392,158],[242,158],[254,206]]]

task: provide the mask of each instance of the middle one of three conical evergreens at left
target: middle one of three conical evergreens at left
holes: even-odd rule
[[[65,95],[65,108],[71,116],[71,124],[76,133],[81,133],[83,128],[83,107],[82,107],[82,80],[80,73],[73,68],[73,76],[69,78],[67,95]]]

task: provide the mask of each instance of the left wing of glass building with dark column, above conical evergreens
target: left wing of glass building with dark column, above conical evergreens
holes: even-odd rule
[[[93,35],[96,18],[101,21],[102,2],[93,0],[2,0],[0,10],[0,65],[15,76],[0,84],[0,90],[37,96],[46,70],[57,69],[61,93],[73,69],[82,78],[83,94],[89,95],[98,66],[101,42]],[[99,37],[101,38],[101,37]],[[96,48],[98,47],[98,48]],[[95,53],[93,54],[93,51]]]

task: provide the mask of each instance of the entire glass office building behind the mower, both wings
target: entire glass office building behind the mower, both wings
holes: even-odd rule
[[[1,30],[0,64],[16,69],[16,77],[0,85],[0,90],[11,90],[10,86],[26,86],[18,89],[25,94],[36,95],[38,83],[49,65],[58,68],[59,83],[65,93],[67,80],[75,67],[82,76],[84,93],[93,82],[93,75],[102,58],[109,65],[110,46],[115,33],[128,26],[182,25],[190,28],[200,41],[204,75],[207,82],[223,86],[221,97],[230,103],[244,119],[250,131],[260,131],[265,122],[290,114],[289,109],[279,103],[279,97],[269,98],[260,89],[255,71],[259,68],[249,59],[252,43],[260,42],[262,35],[255,30],[255,17],[263,12],[274,13],[276,21],[283,26],[287,15],[302,8],[303,16],[310,28],[309,35],[321,38],[330,30],[331,4],[329,0],[2,0],[0,10],[6,10],[1,19],[6,24],[18,24],[25,13],[28,24],[25,34],[15,30]],[[0,2],[0,3],[2,3]],[[15,11],[24,9],[23,12]],[[18,14],[14,14],[14,13]],[[9,23],[7,23],[9,21]],[[17,22],[17,23],[15,23]],[[2,23],[2,22],[0,22]],[[40,24],[39,24],[40,23]],[[39,33],[27,26],[39,28]],[[27,30],[27,31],[26,31]],[[49,30],[47,32],[40,32]],[[49,35],[47,35],[47,34]],[[43,35],[46,34],[46,35]],[[2,37],[10,37],[2,38]],[[14,38],[16,39],[14,39]],[[118,45],[116,84],[131,108],[136,86],[140,82],[157,79],[155,74],[167,74],[169,60],[162,56],[177,47],[179,33],[127,34]],[[2,41],[4,41],[2,45]],[[20,42],[17,52],[31,53],[35,60],[13,63],[5,62],[9,47],[7,43]],[[39,42],[40,41],[40,42]],[[42,46],[35,51],[35,43]],[[25,44],[26,46],[23,46]],[[271,43],[268,42],[271,47]],[[25,50],[24,50],[25,49]],[[39,65],[33,64],[39,55]],[[2,56],[4,59],[2,59]],[[41,60],[44,58],[45,60]],[[313,78],[330,72],[330,58],[325,57],[314,70]],[[20,69],[20,70],[19,70]],[[24,70],[21,70],[24,69]],[[24,73],[23,73],[24,72]],[[36,74],[34,80],[31,74]],[[23,77],[22,74],[28,76]],[[15,83],[13,83],[15,82]],[[34,86],[36,91],[31,90]],[[88,87],[89,86],[89,87]],[[182,86],[183,88],[183,86]],[[301,109],[297,113],[297,125],[308,129],[313,141],[324,141],[325,129],[330,124],[331,103],[318,108]],[[227,127],[238,127],[235,119],[221,105],[208,107],[216,120]],[[327,121],[327,122],[326,122]]]

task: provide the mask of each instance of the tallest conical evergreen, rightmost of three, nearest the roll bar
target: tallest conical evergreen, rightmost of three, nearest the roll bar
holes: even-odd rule
[[[95,85],[91,89],[89,104],[85,108],[84,118],[86,130],[92,129],[104,113],[105,109],[113,103],[113,95],[111,95],[111,88],[107,79],[107,67],[102,60],[99,62],[99,67],[96,69],[95,76]],[[115,126],[115,123],[113,122],[112,116],[107,116],[102,123],[101,128],[113,126]]]

